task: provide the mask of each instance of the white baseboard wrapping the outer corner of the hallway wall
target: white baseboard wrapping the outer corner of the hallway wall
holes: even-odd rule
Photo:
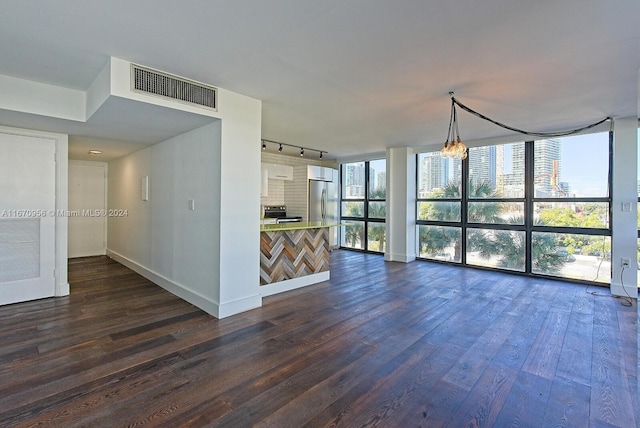
[[[141,264],[123,256],[122,254],[116,253],[115,251],[107,249],[107,256],[123,264],[132,271],[144,276],[149,281],[154,282],[171,294],[178,296],[183,300],[186,300],[187,302],[202,309],[206,313],[213,315],[216,318],[225,318],[262,306],[262,298],[259,294],[220,304],[208,297],[190,290],[182,284],[176,283],[169,278],[142,266]]]

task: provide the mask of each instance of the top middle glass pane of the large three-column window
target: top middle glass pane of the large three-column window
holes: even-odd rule
[[[469,149],[469,198],[524,197],[524,143]]]

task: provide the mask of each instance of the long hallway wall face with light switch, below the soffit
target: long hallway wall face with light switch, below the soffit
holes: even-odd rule
[[[108,219],[109,254],[213,315],[220,303],[219,153],[217,121],[112,161],[109,174],[109,209],[128,213]]]

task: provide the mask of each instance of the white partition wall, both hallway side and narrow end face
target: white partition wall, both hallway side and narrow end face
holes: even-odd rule
[[[261,104],[221,90],[219,105],[220,120],[110,162],[109,209],[129,215],[108,219],[107,253],[223,318],[262,304]]]

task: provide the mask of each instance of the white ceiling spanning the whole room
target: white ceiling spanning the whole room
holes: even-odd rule
[[[2,11],[0,74],[86,90],[122,58],[261,99],[263,138],[329,157],[442,144],[450,90],[532,131],[638,115],[636,0],[4,0]],[[119,156],[161,141],[126,123],[151,113],[94,126],[0,111],[0,124],[69,133],[72,157],[99,144]],[[509,134],[459,119],[466,140]]]

